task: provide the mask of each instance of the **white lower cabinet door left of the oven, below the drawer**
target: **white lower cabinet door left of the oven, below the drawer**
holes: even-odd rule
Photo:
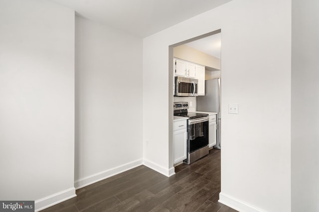
[[[187,158],[187,132],[186,130],[174,131],[174,164]]]

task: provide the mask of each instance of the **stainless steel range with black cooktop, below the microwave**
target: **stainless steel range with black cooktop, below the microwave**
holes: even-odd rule
[[[208,114],[189,113],[188,102],[174,102],[174,116],[188,117],[187,158],[184,163],[192,163],[208,154]]]

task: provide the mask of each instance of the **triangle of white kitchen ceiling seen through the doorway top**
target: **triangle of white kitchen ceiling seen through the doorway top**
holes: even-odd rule
[[[220,33],[201,38],[189,43],[184,44],[207,55],[214,56],[220,59],[221,39]]]

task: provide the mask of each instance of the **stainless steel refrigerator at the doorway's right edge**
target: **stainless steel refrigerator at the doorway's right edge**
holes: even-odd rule
[[[205,96],[197,96],[197,111],[216,112],[216,145],[214,148],[221,147],[220,142],[220,78],[205,80]]]

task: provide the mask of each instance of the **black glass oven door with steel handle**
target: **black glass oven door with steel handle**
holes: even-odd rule
[[[208,117],[188,120],[187,153],[208,145]]]

